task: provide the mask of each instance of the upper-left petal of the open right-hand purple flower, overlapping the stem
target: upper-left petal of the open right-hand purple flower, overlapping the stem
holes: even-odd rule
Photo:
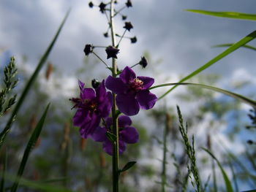
[[[113,91],[113,93],[124,93],[127,91],[127,85],[121,80],[121,78],[115,78],[112,76],[108,76],[106,80],[106,88]]]

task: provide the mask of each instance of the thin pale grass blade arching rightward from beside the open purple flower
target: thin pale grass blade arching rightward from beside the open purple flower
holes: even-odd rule
[[[209,85],[203,85],[203,84],[199,84],[199,83],[192,83],[192,82],[173,82],[173,83],[165,83],[165,84],[161,84],[161,85],[156,85],[154,87],[151,87],[149,89],[154,89],[154,88],[160,88],[160,87],[165,87],[165,86],[171,86],[171,85],[174,85],[174,87],[178,86],[178,85],[192,85],[192,86],[197,86],[197,87],[201,87],[201,88],[207,88],[207,89],[210,89],[212,91],[217,91],[219,93],[224,93],[225,95],[227,96],[231,96],[235,99],[238,99],[240,101],[243,101],[244,103],[246,104],[249,104],[251,105],[252,107],[256,107],[256,101],[252,100],[252,99],[249,99],[245,96],[241,96],[237,93],[233,93],[231,91],[227,91],[225,89],[221,89],[221,88],[216,88],[216,87],[213,87],[213,86],[209,86]],[[174,88],[173,87],[173,88]]]

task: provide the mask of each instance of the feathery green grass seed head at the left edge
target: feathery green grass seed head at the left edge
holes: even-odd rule
[[[0,117],[15,104],[16,95],[10,96],[10,99],[7,99],[7,96],[18,83],[16,74],[15,58],[11,57],[10,63],[4,67],[4,88],[0,91]]]

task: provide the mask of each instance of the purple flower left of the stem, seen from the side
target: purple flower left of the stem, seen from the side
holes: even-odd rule
[[[73,117],[73,124],[80,127],[80,135],[86,139],[99,126],[101,118],[106,118],[110,114],[112,94],[106,91],[105,80],[95,89],[96,93],[93,88],[84,88],[83,82],[78,81],[78,84],[80,98],[70,99],[78,109]]]

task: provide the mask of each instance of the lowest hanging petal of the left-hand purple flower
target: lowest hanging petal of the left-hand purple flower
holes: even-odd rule
[[[88,123],[83,124],[83,126],[80,127],[80,135],[84,139],[92,135],[95,131],[95,128],[99,126],[100,123],[100,117],[96,114],[92,114],[91,120]]]

